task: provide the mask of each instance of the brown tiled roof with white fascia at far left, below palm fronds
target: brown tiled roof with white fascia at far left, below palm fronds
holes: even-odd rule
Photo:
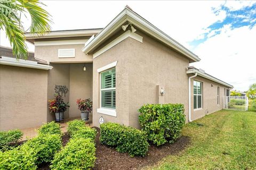
[[[24,60],[23,58],[17,60],[17,57],[13,55],[12,48],[3,46],[0,46],[0,64],[43,70],[52,69],[52,66],[50,66],[46,61],[36,58],[33,52],[28,53],[27,60]]]

